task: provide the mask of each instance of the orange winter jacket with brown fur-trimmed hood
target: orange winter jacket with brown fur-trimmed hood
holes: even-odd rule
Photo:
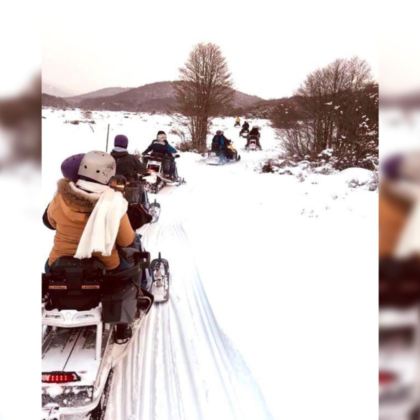
[[[63,178],[58,181],[57,193],[47,209],[48,221],[56,229],[48,265],[51,265],[59,256],[75,254],[84,226],[96,201],[97,199],[74,191],[69,185],[69,179]],[[134,236],[135,232],[125,213],[119,222],[116,243],[120,246],[128,246],[134,240]],[[94,252],[92,256],[101,259],[108,270],[119,264],[115,245],[109,256],[103,256],[100,252]]]

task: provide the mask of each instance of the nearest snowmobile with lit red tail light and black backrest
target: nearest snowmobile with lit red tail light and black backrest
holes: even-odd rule
[[[42,418],[99,420],[114,366],[126,355],[153,295],[140,286],[150,254],[123,248],[131,267],[107,273],[96,257],[59,257],[42,274]],[[116,325],[132,335],[117,340]],[[77,417],[79,418],[79,417]]]

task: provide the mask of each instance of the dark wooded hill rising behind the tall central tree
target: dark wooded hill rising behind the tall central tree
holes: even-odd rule
[[[235,91],[234,108],[248,107],[262,100],[258,96]],[[158,81],[119,92],[106,97],[91,97],[80,100],[78,106],[85,109],[126,110],[137,112],[165,112],[175,104],[171,81]]]

